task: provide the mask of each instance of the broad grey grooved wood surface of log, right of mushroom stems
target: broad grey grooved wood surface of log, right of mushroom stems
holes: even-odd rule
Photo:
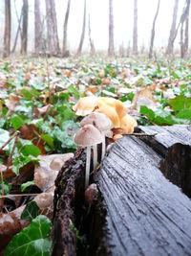
[[[180,142],[171,135],[171,145],[163,135],[157,139],[166,147]],[[103,160],[96,180],[107,210],[105,255],[191,255],[191,201],[161,174],[160,160],[134,137],[117,141]]]

